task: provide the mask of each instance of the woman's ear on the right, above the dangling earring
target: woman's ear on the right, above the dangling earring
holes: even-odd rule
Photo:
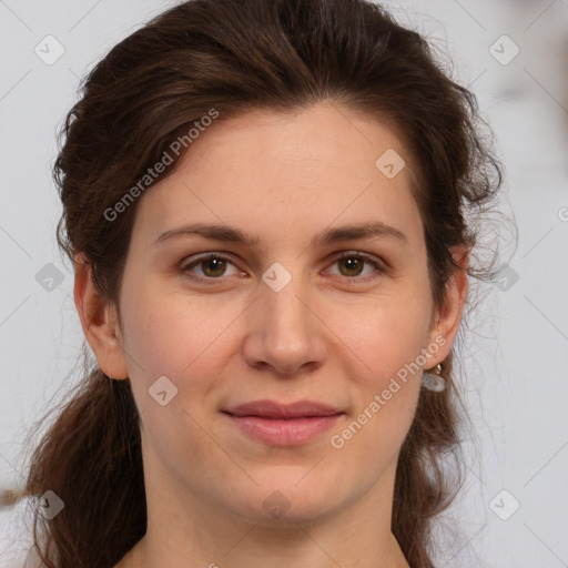
[[[452,345],[459,329],[464,305],[467,298],[467,268],[469,266],[469,248],[465,245],[456,245],[449,248],[454,261],[462,270],[454,268],[446,284],[446,300],[444,305],[436,311],[434,324],[430,329],[430,343],[440,345],[440,337],[445,343],[440,345],[436,357],[432,357],[432,366],[442,363],[449,354]],[[438,338],[438,341],[436,341]]]

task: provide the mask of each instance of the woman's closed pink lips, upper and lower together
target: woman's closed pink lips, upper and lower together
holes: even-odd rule
[[[248,437],[273,446],[297,446],[328,430],[345,413],[313,402],[255,400],[223,410]]]

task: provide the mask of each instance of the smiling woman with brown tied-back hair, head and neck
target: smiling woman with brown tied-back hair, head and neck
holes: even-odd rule
[[[364,0],[193,0],[94,68],[54,174],[97,365],[31,463],[45,566],[434,566],[478,122]]]

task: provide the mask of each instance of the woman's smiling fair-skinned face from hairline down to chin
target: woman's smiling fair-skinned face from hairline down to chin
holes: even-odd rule
[[[409,166],[386,125],[320,103],[214,123],[140,197],[120,335],[149,506],[263,523],[390,507],[416,364],[457,328],[434,308]],[[306,400],[327,412],[278,414]]]

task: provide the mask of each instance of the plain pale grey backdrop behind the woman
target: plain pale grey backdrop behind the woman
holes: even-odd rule
[[[27,428],[77,379],[83,342],[55,246],[57,131],[79,79],[172,3],[0,0],[2,486],[22,484]],[[501,210],[519,230],[514,248],[495,221],[488,242],[500,243],[507,266],[479,287],[464,334],[476,436],[464,444],[466,484],[439,525],[437,567],[568,566],[568,2],[385,3],[449,54],[454,78],[476,93],[506,168]],[[0,567],[22,566],[26,519],[23,506],[0,511]]]

